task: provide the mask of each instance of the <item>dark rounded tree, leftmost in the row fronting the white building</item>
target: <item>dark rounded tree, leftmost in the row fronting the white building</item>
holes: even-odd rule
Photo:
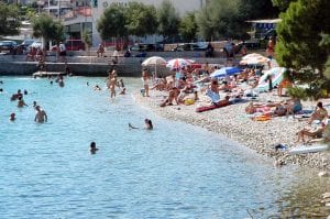
[[[97,30],[102,40],[128,34],[125,11],[127,8],[118,4],[111,4],[105,10],[97,22]]]

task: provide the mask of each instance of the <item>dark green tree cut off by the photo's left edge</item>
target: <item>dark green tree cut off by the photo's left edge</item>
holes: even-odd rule
[[[16,35],[20,33],[18,7],[0,2],[0,35]]]

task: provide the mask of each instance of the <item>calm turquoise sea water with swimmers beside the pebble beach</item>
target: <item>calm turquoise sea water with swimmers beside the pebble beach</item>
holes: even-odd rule
[[[278,218],[327,216],[329,182],[222,136],[162,119],[105,78],[0,77],[0,218]],[[89,81],[90,86],[86,86]],[[140,79],[124,78],[128,91]],[[9,100],[26,89],[29,107]],[[34,123],[32,101],[48,122]],[[16,121],[8,120],[10,112]],[[154,130],[130,130],[152,119]],[[89,143],[100,149],[89,153]]]

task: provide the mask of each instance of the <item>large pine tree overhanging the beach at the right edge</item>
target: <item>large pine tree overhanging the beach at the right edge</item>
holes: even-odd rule
[[[309,97],[320,98],[330,90],[323,76],[328,59],[321,33],[330,33],[328,0],[297,0],[292,2],[277,25],[276,59],[279,65],[297,69],[295,79],[309,85]]]

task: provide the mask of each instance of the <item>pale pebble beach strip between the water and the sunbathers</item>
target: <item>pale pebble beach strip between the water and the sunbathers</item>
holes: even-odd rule
[[[249,102],[230,105],[206,112],[195,112],[196,107],[205,105],[197,101],[195,105],[174,105],[160,107],[160,102],[166,92],[151,90],[150,97],[142,97],[140,92],[133,94],[134,101],[148,108],[154,113],[174,121],[183,121],[193,125],[204,128],[213,133],[222,134],[231,141],[238,142],[258,154],[272,158],[274,162],[284,164],[299,164],[319,171],[330,172],[330,153],[308,153],[290,155],[288,149],[297,146],[294,142],[297,139],[296,132],[306,125],[306,121],[298,121],[293,117],[278,117],[270,121],[253,121],[245,114],[245,107]],[[278,100],[283,98],[270,94],[261,94],[261,100]],[[315,106],[315,102],[306,101],[302,106]],[[274,145],[285,144],[287,150],[275,151]],[[300,145],[302,143],[299,143]]]

